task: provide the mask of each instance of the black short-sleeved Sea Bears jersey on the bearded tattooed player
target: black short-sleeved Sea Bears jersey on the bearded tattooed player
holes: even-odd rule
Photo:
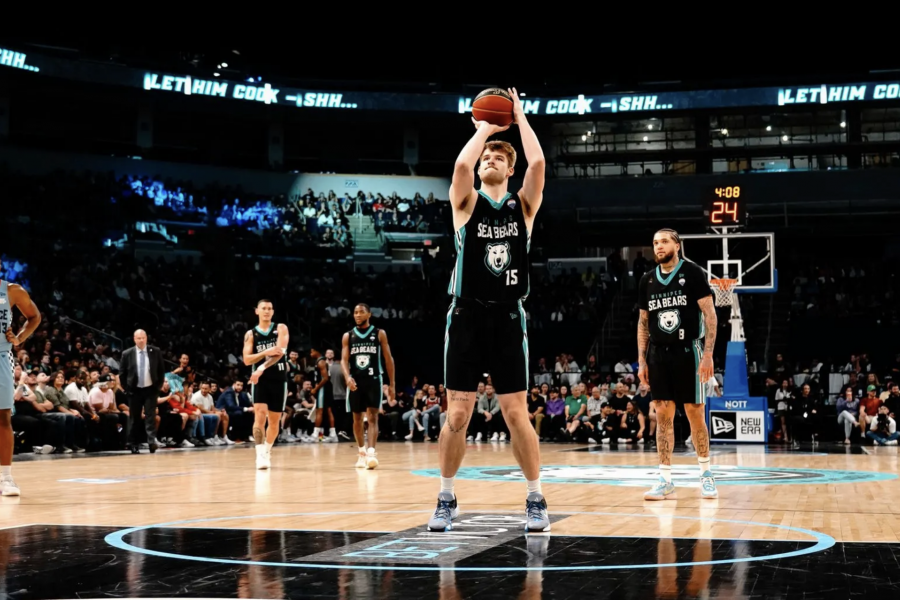
[[[650,342],[688,346],[706,335],[697,302],[712,295],[706,273],[696,263],[680,260],[671,273],[657,267],[644,273],[638,286],[641,309],[650,313]]]

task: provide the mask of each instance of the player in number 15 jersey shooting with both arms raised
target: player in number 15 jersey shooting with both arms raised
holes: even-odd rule
[[[448,409],[439,448],[441,491],[428,522],[431,531],[451,529],[459,515],[453,478],[466,452],[466,427],[485,372],[490,373],[499,396],[513,454],[528,483],[526,531],[550,530],[547,503],[540,488],[540,449],[525,397],[531,386],[522,308],[529,290],[528,251],[544,194],[545,162],[516,90],[507,91],[528,160],[522,189],[517,194],[507,189],[516,151],[507,142],[488,141],[510,126],[475,119],[475,135],[456,159],[450,186],[457,256],[447,290],[452,296],[444,334]],[[476,166],[481,179],[477,190]]]

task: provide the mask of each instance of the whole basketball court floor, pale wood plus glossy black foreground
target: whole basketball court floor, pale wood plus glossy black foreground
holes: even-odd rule
[[[0,502],[0,597],[900,591],[897,447],[714,446],[718,500],[699,498],[682,447],[665,502],[642,499],[652,449],[541,450],[553,530],[527,537],[509,444],[469,444],[452,535],[424,527],[435,443],[380,444],[372,471],[348,443],[276,446],[270,471],[247,445],[18,461],[22,496]]]

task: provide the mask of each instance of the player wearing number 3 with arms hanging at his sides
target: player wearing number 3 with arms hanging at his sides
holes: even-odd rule
[[[356,468],[374,469],[378,466],[375,443],[378,440],[378,412],[381,409],[381,356],[389,381],[391,398],[397,397],[394,381],[394,357],[387,343],[387,334],[369,324],[372,311],[368,304],[353,309],[356,327],[344,334],[341,369],[347,382],[347,404],[353,414],[353,435],[359,447]],[[369,448],[366,450],[363,419],[369,424]]]

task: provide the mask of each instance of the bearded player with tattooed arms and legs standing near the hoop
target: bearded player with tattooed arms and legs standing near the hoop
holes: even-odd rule
[[[706,274],[678,256],[681,238],[673,229],[653,236],[656,269],[638,285],[638,377],[650,385],[656,400],[656,445],[659,482],[645,500],[675,498],[672,484],[672,446],[675,408],[683,407],[691,423],[691,437],[700,463],[700,495],[718,498],[709,469],[709,431],[706,429],[706,384],[713,376],[716,309]],[[705,343],[701,345],[701,340]]]

